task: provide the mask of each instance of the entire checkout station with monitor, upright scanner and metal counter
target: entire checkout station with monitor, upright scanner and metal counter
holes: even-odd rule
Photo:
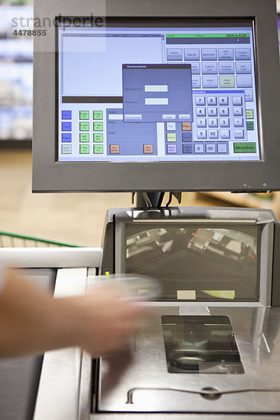
[[[109,273],[152,276],[160,293],[127,353],[45,353],[29,418],[279,419],[279,221],[162,206],[165,192],[280,189],[275,1],[35,0],[46,17],[33,190],[130,191],[137,203],[107,212],[100,249],[1,252],[55,269],[55,297]]]

